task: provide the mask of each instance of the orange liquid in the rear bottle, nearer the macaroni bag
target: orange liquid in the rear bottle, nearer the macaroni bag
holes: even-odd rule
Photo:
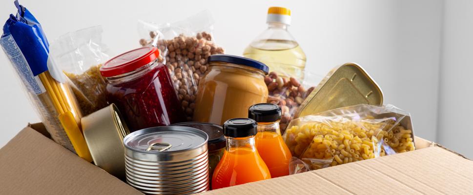
[[[255,139],[256,149],[265,161],[271,176],[274,178],[289,175],[289,161],[292,155],[283,137],[275,132],[258,132]]]

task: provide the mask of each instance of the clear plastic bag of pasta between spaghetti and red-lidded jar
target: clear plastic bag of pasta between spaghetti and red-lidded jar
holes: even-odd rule
[[[100,66],[110,57],[102,43],[102,27],[94,26],[64,34],[51,45],[51,56],[67,76],[82,114],[107,106],[106,82]]]

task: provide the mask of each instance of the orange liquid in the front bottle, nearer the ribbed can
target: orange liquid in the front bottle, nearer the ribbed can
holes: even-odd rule
[[[225,151],[222,160],[215,168],[212,189],[270,178],[269,170],[258,152],[253,152],[249,148],[236,148],[229,152]]]

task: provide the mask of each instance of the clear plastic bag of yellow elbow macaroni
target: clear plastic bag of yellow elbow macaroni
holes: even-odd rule
[[[291,174],[415,150],[411,116],[393,105],[360,104],[293,119],[283,135]]]

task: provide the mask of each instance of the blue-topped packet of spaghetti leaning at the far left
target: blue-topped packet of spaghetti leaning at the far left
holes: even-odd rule
[[[54,141],[92,161],[80,129],[81,111],[62,72],[49,57],[41,24],[22,5],[3,26],[0,45]]]

